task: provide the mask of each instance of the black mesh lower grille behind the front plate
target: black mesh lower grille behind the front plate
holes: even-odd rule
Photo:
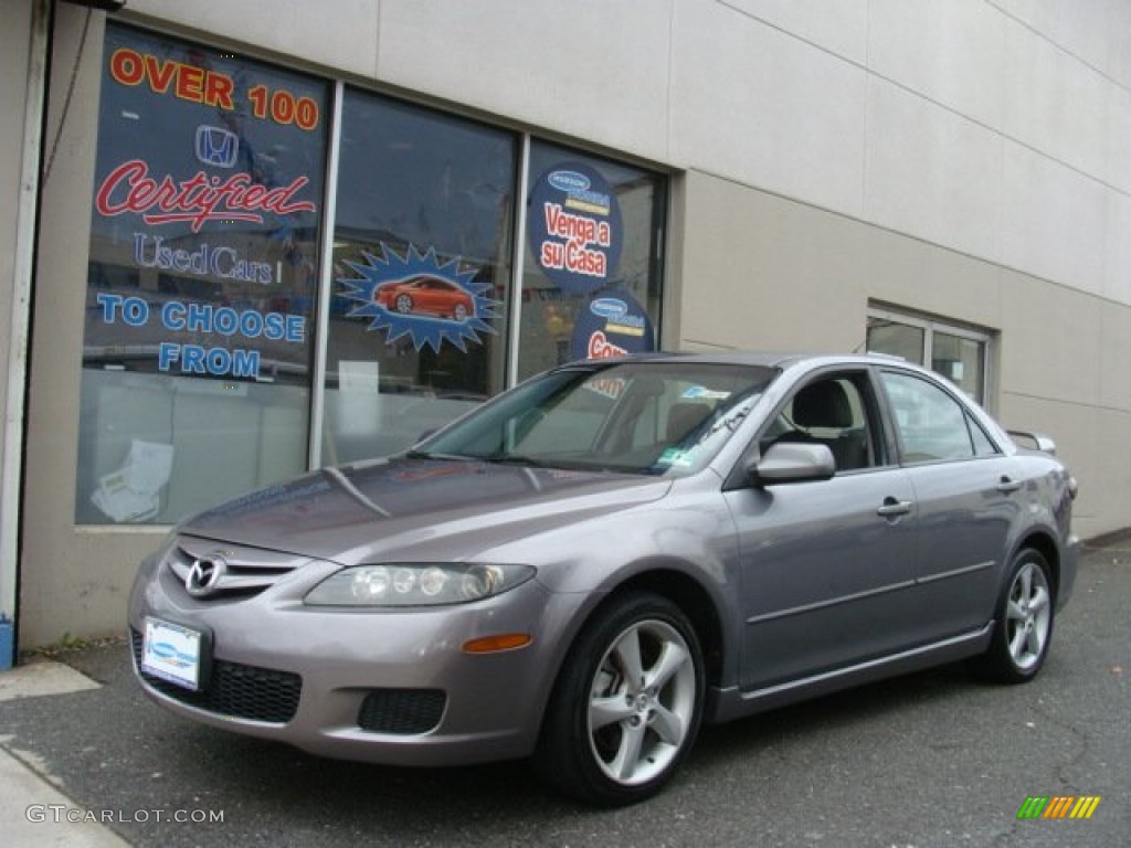
[[[214,659],[207,686],[190,692],[141,668],[141,634],[130,629],[133,660],[146,684],[166,698],[231,718],[286,724],[299,709],[302,677],[290,672]]]

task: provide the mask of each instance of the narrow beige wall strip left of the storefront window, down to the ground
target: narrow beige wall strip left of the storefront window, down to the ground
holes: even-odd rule
[[[67,72],[53,75],[46,124],[48,148],[55,155],[43,182],[36,268],[40,308],[32,351],[20,564],[20,639],[25,644],[52,641],[64,632],[121,632],[126,573],[137,565],[127,553],[130,535],[107,534],[100,537],[103,544],[90,544],[74,526],[86,239],[95,154],[90,132],[97,126],[103,16],[92,18],[62,124],[60,107],[68,99],[66,87],[85,11],[61,3],[55,16],[53,61]]]

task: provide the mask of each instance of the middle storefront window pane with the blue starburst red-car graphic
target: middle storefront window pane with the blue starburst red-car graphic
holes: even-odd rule
[[[348,89],[321,461],[409,447],[500,391],[516,139]]]

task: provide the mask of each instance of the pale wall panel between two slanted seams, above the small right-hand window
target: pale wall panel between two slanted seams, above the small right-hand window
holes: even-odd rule
[[[872,78],[864,217],[974,256],[1000,253],[1002,139]]]

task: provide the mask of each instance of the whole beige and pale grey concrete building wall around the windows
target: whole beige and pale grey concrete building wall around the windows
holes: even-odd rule
[[[58,8],[26,643],[120,630],[158,542],[72,520],[101,14],[62,124],[59,107],[86,15]],[[871,301],[994,331],[991,406],[1056,436],[1078,529],[1131,523],[1131,5],[130,0],[119,17],[670,170],[667,347],[854,349]]]

